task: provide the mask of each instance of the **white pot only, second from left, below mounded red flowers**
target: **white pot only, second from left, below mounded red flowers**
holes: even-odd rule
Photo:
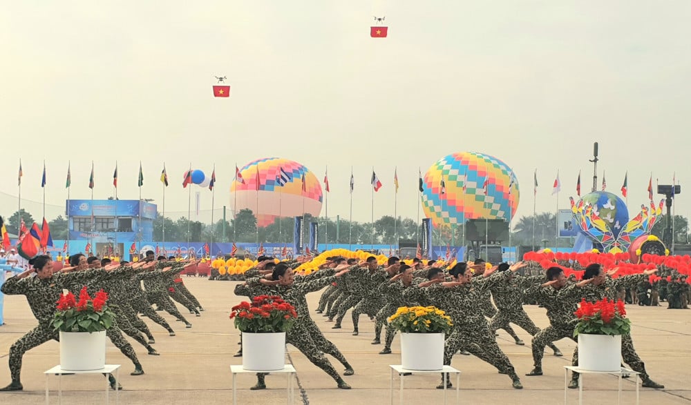
[[[243,369],[276,371],[285,367],[285,332],[243,332]]]

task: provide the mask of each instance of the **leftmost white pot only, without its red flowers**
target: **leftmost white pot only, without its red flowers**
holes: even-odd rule
[[[67,371],[100,370],[106,365],[106,331],[60,332],[60,367]]]

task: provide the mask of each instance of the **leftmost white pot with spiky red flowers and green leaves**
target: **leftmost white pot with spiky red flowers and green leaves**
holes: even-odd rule
[[[86,286],[79,301],[72,293],[62,294],[51,324],[60,332],[60,366],[68,371],[100,370],[106,364],[106,329],[115,314],[108,308],[104,290],[89,297]]]

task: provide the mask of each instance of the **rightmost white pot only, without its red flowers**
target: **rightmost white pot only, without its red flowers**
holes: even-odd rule
[[[578,334],[578,367],[590,371],[619,371],[621,335]]]

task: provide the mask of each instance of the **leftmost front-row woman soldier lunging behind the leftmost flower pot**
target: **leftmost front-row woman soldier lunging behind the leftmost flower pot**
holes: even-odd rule
[[[81,255],[86,265],[86,257]],[[77,257],[77,260],[79,257]],[[59,340],[59,333],[51,326],[55,314],[55,303],[62,294],[62,290],[69,290],[77,283],[83,283],[88,279],[94,277],[106,277],[104,270],[89,270],[75,273],[55,273],[53,274],[53,261],[48,256],[37,256],[31,259],[30,264],[33,266],[30,270],[26,270],[19,275],[8,279],[0,289],[7,295],[25,295],[26,300],[31,308],[31,312],[39,321],[39,325],[30,330],[26,335],[19,338],[17,342],[10,347],[9,366],[12,382],[10,385],[0,388],[0,391],[21,391],[21,362],[22,357],[26,351],[35,348],[49,340]],[[28,277],[32,273],[36,273],[35,277]],[[113,333],[108,334],[108,331],[113,330]],[[106,331],[111,341],[120,348],[122,353],[133,359],[135,364],[135,371],[131,375],[142,375],[142,365],[137,360],[137,355],[134,353],[132,346],[129,345],[120,334],[120,330],[116,326],[111,327]],[[119,337],[115,336],[119,335]],[[111,382],[111,388],[122,389],[112,375],[108,375]]]

